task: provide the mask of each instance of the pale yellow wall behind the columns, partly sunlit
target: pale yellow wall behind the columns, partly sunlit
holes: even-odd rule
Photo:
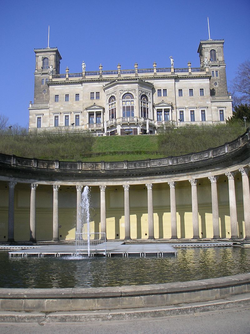
[[[228,180],[221,176],[217,181],[219,221],[221,237],[231,237]],[[8,238],[8,184],[0,182],[0,241]],[[245,236],[242,179],[235,176],[235,193],[239,236]],[[213,237],[211,183],[208,179],[197,182],[199,231],[201,237]],[[147,188],[131,185],[130,225],[132,239],[148,238]],[[90,230],[100,231],[100,189],[91,187]],[[18,183],[15,187],[15,240],[29,240],[30,187]],[[154,233],[155,238],[171,237],[170,189],[167,183],[153,185]],[[192,238],[191,185],[188,181],[176,184],[177,236]],[[52,186],[38,185],[36,190],[36,238],[51,240],[53,236],[53,190]],[[76,227],[76,188],[61,186],[59,189],[59,234],[60,239],[74,239]],[[124,189],[122,186],[106,188],[106,224],[108,239],[123,239]],[[86,226],[84,226],[84,231]],[[203,234],[201,234],[201,232]],[[5,236],[5,238],[4,238]]]

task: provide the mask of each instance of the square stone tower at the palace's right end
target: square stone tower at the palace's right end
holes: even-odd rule
[[[201,66],[206,57],[208,60],[211,96],[228,95],[223,44],[224,39],[201,40],[197,51],[200,55]]]

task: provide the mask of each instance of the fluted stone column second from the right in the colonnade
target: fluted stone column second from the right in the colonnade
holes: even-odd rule
[[[226,173],[226,176],[228,178],[228,189],[229,189],[231,238],[238,238],[238,221],[237,221],[237,211],[236,211],[234,175],[235,173],[233,172]]]

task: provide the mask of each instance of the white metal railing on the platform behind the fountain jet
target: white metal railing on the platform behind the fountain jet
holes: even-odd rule
[[[76,233],[76,255],[106,255],[106,233]]]

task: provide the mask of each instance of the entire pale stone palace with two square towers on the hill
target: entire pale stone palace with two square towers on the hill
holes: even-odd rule
[[[156,133],[159,127],[211,125],[232,115],[224,40],[201,40],[200,67],[60,74],[57,48],[35,49],[35,94],[29,130],[91,131],[96,135]]]

